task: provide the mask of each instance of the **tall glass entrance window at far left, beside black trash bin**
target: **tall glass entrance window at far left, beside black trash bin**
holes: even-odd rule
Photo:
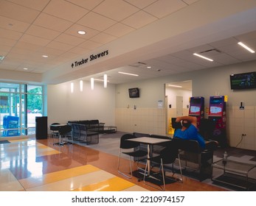
[[[0,82],[1,137],[35,134],[35,117],[42,116],[41,85]]]

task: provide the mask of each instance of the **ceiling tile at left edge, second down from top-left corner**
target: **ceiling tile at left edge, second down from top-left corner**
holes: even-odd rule
[[[16,32],[25,32],[29,26],[30,24],[28,23],[0,16],[0,27],[3,29],[10,29]]]

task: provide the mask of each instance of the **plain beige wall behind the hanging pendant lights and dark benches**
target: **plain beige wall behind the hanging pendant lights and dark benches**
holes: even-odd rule
[[[74,93],[71,93],[71,82],[48,85],[48,124],[99,119],[105,125],[115,125],[115,85],[103,88],[103,82],[94,82],[94,90],[91,90],[90,82],[83,81],[83,91],[80,91],[79,80],[73,82]]]

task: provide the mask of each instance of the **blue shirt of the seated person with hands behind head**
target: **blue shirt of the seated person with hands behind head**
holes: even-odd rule
[[[173,137],[198,141],[201,149],[204,149],[205,147],[204,138],[198,133],[198,129],[193,124],[184,131],[181,131],[181,129],[175,129]]]

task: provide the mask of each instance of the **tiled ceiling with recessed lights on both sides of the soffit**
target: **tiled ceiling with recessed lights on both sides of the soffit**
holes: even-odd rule
[[[234,1],[225,1],[226,4],[229,2],[235,4]],[[80,59],[83,54],[198,2],[198,0],[0,0],[0,56],[4,56],[4,60],[0,60],[0,72],[8,70],[44,74],[53,71],[60,68],[63,63]],[[118,84],[256,60],[256,54],[251,54],[238,45],[238,41],[243,41],[256,50],[255,4],[252,10],[247,12],[245,9],[241,18],[238,17],[235,16],[234,20],[232,17],[225,19],[223,25],[229,22],[234,24],[234,21],[239,19],[241,21],[237,21],[238,26],[243,26],[230,30],[229,33],[226,32],[223,37],[219,37],[218,31],[214,31],[214,28],[209,26],[208,29],[212,29],[212,33],[215,32],[216,35],[212,38],[205,37],[207,42],[202,40],[204,42],[202,45],[196,43],[194,46],[193,43],[187,43],[187,47],[181,50],[172,47],[173,52],[165,49],[170,52],[161,56],[157,54],[158,49],[154,46],[156,54],[151,54],[149,59],[143,57],[142,60],[131,61],[118,68],[107,68],[108,71],[100,73],[94,74],[91,71],[90,75],[81,76],[80,79],[89,80],[90,77],[103,79],[103,74],[108,74],[108,80]],[[78,35],[78,30],[85,30],[86,35]],[[167,44],[165,46],[167,47]],[[209,62],[195,57],[194,52],[204,53],[214,61]],[[44,54],[49,57],[42,57]],[[148,65],[151,68],[147,68]],[[25,71],[24,68],[27,70]],[[120,75],[118,71],[139,74],[139,77]]]

